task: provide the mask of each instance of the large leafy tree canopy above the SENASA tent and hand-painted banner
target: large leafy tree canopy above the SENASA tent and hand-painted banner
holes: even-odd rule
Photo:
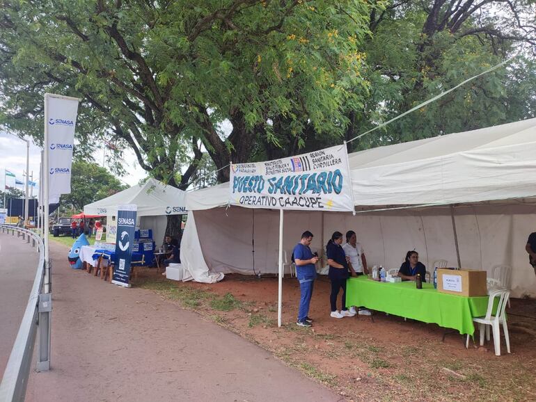
[[[258,138],[277,144],[275,131],[294,148],[306,131],[340,136],[340,106],[363,96],[370,10],[353,0],[4,1],[1,122],[39,133],[43,93],[82,97],[82,147],[111,135],[184,187],[200,142],[222,168],[247,161]],[[191,165],[176,183],[181,163]]]

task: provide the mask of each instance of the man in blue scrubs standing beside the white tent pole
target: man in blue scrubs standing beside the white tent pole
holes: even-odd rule
[[[296,324],[301,327],[310,327],[313,322],[308,314],[310,299],[313,296],[313,284],[317,278],[315,264],[318,262],[318,256],[313,255],[310,250],[311,241],[313,241],[313,233],[306,230],[301,234],[300,242],[294,246],[292,251],[294,264],[296,264],[296,278],[299,281],[301,293]]]

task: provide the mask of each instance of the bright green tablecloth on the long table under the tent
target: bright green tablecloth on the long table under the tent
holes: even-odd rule
[[[364,306],[469,335],[475,332],[473,317],[486,315],[488,300],[440,293],[429,283],[416,289],[415,282],[377,282],[365,276],[349,278],[346,285],[347,307]]]

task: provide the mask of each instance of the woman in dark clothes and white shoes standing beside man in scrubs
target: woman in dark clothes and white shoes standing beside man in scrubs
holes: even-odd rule
[[[354,316],[355,313],[348,311],[346,307],[346,280],[349,277],[348,262],[346,260],[345,250],[342,250],[342,233],[333,232],[331,239],[326,245],[326,256],[329,264],[329,280],[331,280],[331,316],[334,319],[342,319],[345,316]],[[342,287],[342,310],[337,310],[337,296],[339,289]]]

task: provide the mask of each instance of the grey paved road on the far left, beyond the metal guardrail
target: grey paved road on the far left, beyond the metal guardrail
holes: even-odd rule
[[[38,253],[17,234],[0,230],[0,379],[9,360],[36,276]]]

